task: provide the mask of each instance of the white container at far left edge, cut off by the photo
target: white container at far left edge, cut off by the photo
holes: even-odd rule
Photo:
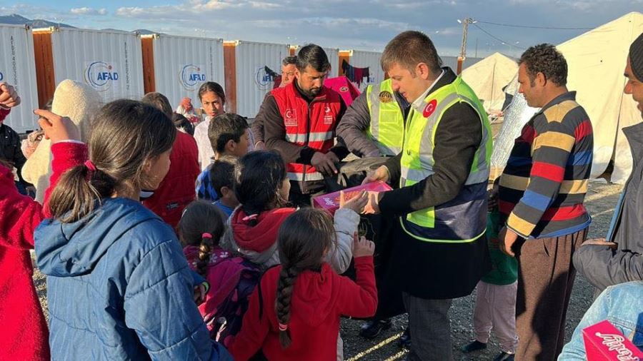
[[[34,63],[34,37],[24,25],[0,24],[0,81],[16,88],[21,104],[11,110],[4,123],[18,133],[38,128],[33,110],[38,108],[38,86]]]

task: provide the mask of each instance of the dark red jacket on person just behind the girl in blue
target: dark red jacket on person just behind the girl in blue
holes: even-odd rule
[[[154,195],[143,201],[143,205],[176,228],[183,210],[196,199],[194,183],[201,173],[201,168],[194,138],[177,131],[170,162],[169,171],[159,188],[154,190]]]

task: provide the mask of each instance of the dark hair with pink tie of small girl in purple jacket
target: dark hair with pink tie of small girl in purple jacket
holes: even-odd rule
[[[177,230],[183,246],[199,246],[196,273],[205,275],[210,255],[225,230],[221,210],[214,204],[195,200],[183,211]]]

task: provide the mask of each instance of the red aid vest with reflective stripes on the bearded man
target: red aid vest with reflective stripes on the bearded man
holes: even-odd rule
[[[298,146],[309,146],[327,153],[334,146],[335,127],[339,121],[341,101],[339,94],[326,86],[310,105],[296,90],[294,81],[284,88],[271,91],[286,126],[286,141]],[[324,176],[313,166],[289,163],[290,180],[322,180]]]

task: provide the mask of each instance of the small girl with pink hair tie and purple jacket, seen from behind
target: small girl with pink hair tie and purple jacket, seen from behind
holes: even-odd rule
[[[178,232],[190,268],[209,285],[199,312],[211,338],[227,347],[241,328],[261,271],[248,260],[234,257],[219,246],[224,233],[221,213],[216,205],[196,200],[185,208]]]

